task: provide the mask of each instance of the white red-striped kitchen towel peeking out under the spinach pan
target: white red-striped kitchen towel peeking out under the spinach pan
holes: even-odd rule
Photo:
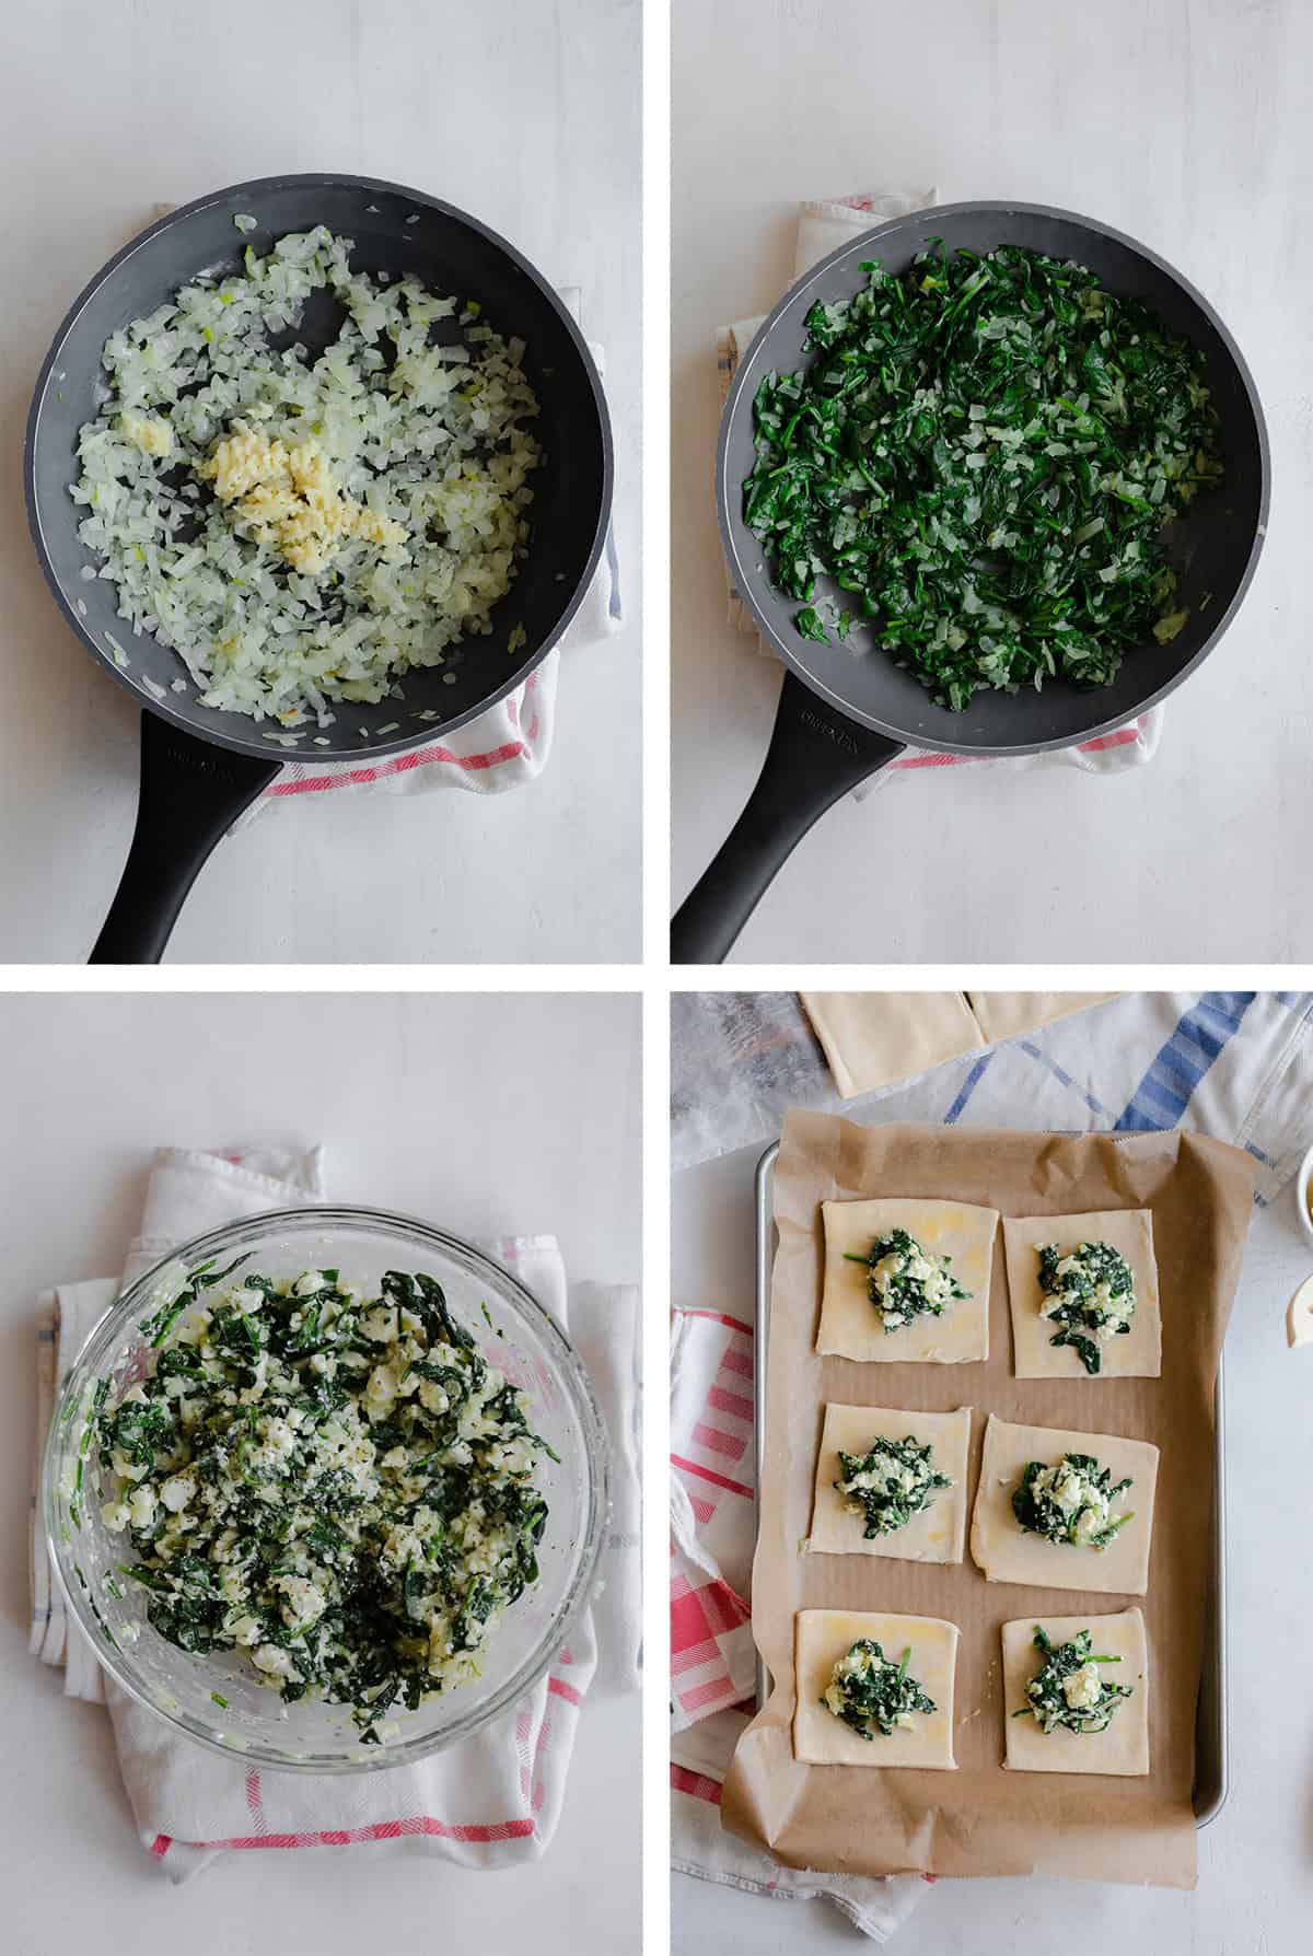
[[[924,211],[935,201],[929,190],[873,190],[857,192],[851,198],[828,198],[798,205],[798,231],[794,239],[792,278],[800,280],[822,258],[839,244],[847,244],[853,235],[873,231],[892,217],[906,217],[910,211]],[[742,356],[757,336],[765,315],[740,319],[732,327],[720,327],[716,334],[716,370],[720,376],[720,401],[724,403],[730,381],[738,372]],[[728,571],[728,565],[726,565]],[[730,624],[738,632],[755,632],[751,610],[730,581]],[[757,638],[757,647],[767,657],[775,657],[765,640]],[[1162,708],[1151,706],[1139,720],[1100,734],[1098,739],[1080,741],[1076,747],[1061,747],[1057,753],[1031,753],[1014,759],[961,753],[904,753],[900,761],[883,767],[853,790],[853,800],[865,800],[886,786],[894,775],[906,775],[928,767],[1006,767],[1014,773],[1035,767],[1078,767],[1086,775],[1111,775],[1125,767],[1139,767],[1151,761],[1162,739]]]

